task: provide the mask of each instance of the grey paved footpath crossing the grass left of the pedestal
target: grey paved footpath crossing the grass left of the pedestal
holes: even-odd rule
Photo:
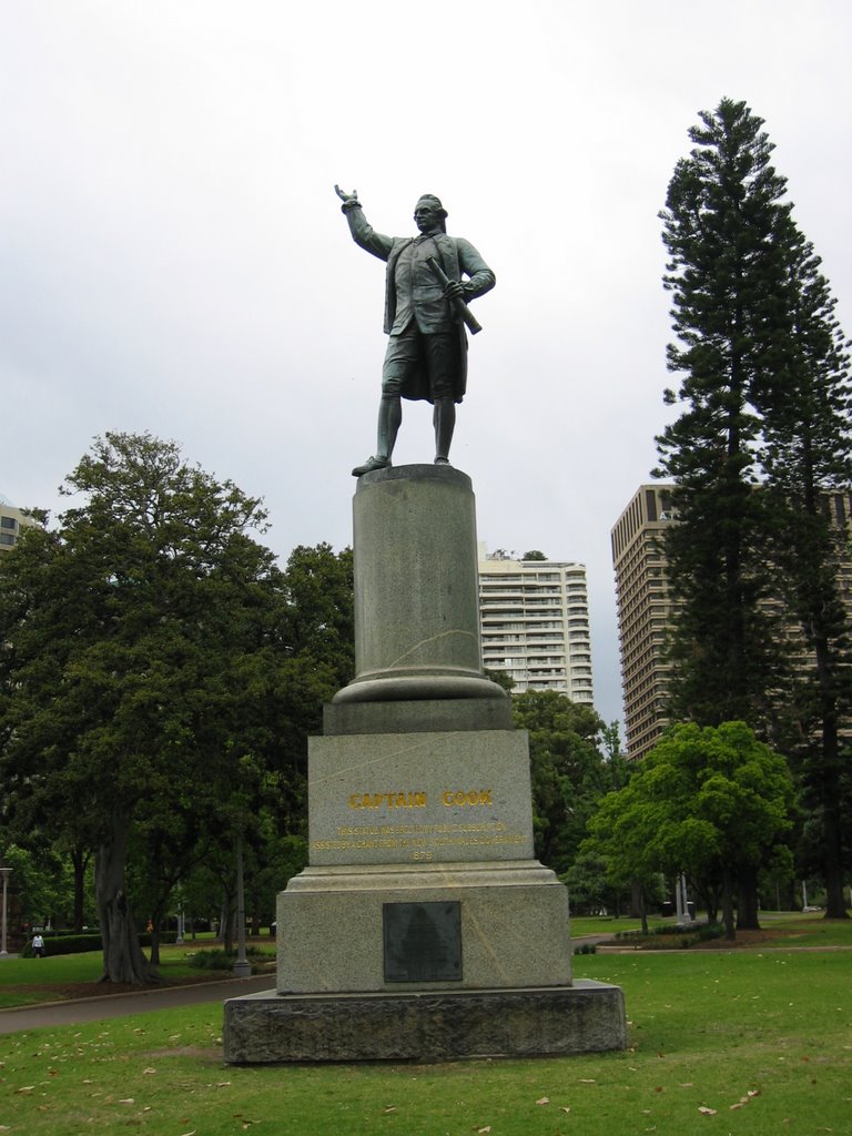
[[[273,989],[275,975],[251,978],[227,978],[217,983],[193,983],[191,986],[167,986],[141,989],[133,994],[103,994],[100,997],[69,1002],[45,1002],[41,1005],[0,1010],[0,1034],[19,1034],[28,1029],[74,1026],[81,1021],[124,1018],[149,1010],[174,1010],[181,1005],[224,1002],[228,997]]]

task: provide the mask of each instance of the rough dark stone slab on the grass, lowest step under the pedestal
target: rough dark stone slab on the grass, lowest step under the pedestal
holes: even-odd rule
[[[453,1061],[624,1050],[618,986],[467,993],[281,995],[225,1003],[225,1060]]]

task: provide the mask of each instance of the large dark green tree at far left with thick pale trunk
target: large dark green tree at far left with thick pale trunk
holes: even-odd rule
[[[64,492],[82,503],[0,565],[6,807],[27,801],[87,836],[103,977],[145,983],[125,880],[133,821],[144,802],[203,813],[227,796],[276,569],[249,535],[259,501],[173,443],[107,434]]]

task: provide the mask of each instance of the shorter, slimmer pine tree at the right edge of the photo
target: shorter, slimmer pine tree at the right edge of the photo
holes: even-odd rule
[[[780,594],[805,649],[794,702],[800,737],[792,757],[818,836],[820,862],[813,867],[822,869],[826,914],[838,919],[846,918],[844,866],[852,855],[843,840],[852,775],[842,743],[852,708],[852,657],[840,584],[840,566],[849,560],[852,486],[850,357],[820,260],[791,229],[784,367],[768,376],[755,401]]]

